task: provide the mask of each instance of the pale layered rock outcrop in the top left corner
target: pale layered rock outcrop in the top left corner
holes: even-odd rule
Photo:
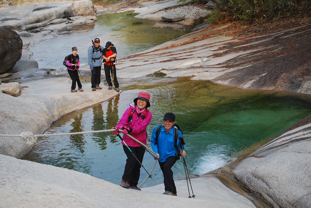
[[[29,46],[52,32],[93,23],[97,20],[95,13],[96,6],[90,0],[0,8],[0,27],[16,30],[25,37],[23,45]]]

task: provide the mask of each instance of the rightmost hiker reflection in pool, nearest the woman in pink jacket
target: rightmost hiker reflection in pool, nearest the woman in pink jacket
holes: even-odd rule
[[[118,121],[118,105],[120,100],[120,94],[115,96],[113,99],[108,100],[108,106],[107,106],[107,126],[106,129],[113,127],[116,124],[116,121]],[[115,136],[110,136],[110,141],[112,143],[115,143],[118,141],[118,139]]]

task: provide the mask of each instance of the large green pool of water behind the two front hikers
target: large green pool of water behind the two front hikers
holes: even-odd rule
[[[116,125],[139,91],[151,94],[153,114],[149,135],[174,112],[184,133],[188,169],[202,175],[224,166],[237,153],[275,136],[311,113],[310,96],[275,91],[247,91],[215,85],[209,81],[180,79],[173,84],[133,87],[120,95],[65,115],[45,133],[68,133],[110,129]],[[24,159],[90,174],[119,184],[126,156],[117,136],[97,133],[41,138]],[[145,154],[143,165],[150,171],[155,160]],[[173,167],[175,179],[184,179],[183,164]],[[163,183],[159,165],[142,187]],[[147,173],[141,169],[142,182]]]

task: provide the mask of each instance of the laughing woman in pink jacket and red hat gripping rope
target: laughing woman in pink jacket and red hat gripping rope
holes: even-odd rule
[[[123,113],[118,125],[114,127],[115,129],[120,129],[121,126],[124,127],[124,130],[121,132],[124,134],[123,140],[132,150],[132,153],[137,157],[140,163],[142,163],[145,148],[126,134],[130,133],[138,141],[141,141],[145,145],[147,144],[146,127],[149,125],[152,118],[151,112],[147,109],[150,107],[149,100],[150,95],[148,93],[140,92],[137,98],[134,99],[134,103],[129,104],[130,107]],[[113,133],[118,134],[117,131],[114,131]],[[137,187],[141,165],[123,142],[122,144],[123,150],[128,159],[126,159],[120,186],[141,190]]]

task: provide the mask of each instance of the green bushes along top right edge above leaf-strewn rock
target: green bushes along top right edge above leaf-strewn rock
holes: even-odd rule
[[[203,4],[207,2],[208,0],[192,1]],[[210,17],[215,21],[258,22],[279,17],[311,15],[310,0],[217,0],[217,2],[215,13]]]

